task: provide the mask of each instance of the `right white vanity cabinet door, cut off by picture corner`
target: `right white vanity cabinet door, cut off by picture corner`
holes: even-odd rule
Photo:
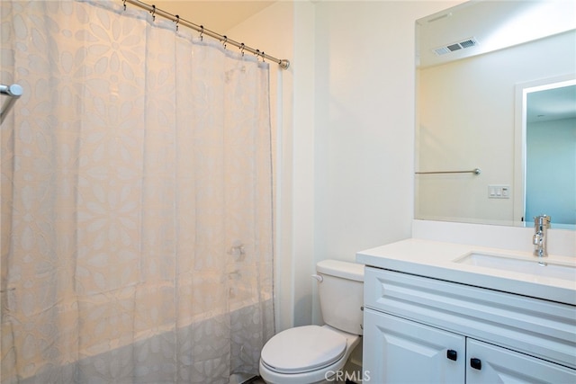
[[[466,384],[576,383],[576,371],[496,345],[468,339]]]

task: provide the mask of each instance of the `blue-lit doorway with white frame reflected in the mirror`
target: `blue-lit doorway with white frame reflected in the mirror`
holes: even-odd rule
[[[523,219],[576,224],[576,80],[523,89]]]

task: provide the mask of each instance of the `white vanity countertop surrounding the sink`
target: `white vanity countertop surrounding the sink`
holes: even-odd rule
[[[560,279],[504,267],[499,269],[454,262],[472,252],[504,255],[534,263],[538,260],[528,252],[410,238],[358,252],[356,261],[377,268],[576,305],[576,268],[572,270],[572,279]],[[576,266],[576,258],[570,256],[549,255],[544,261],[551,266]]]

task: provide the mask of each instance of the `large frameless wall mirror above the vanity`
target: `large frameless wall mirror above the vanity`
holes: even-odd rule
[[[555,99],[537,113],[568,127],[567,157],[535,157],[558,142],[526,128],[539,91],[576,79],[573,2],[471,1],[419,19],[416,29],[415,218],[532,226],[537,212],[552,216],[553,228],[576,228],[573,88],[561,92],[570,112],[554,117],[564,104]],[[545,182],[534,174],[543,172],[560,185],[539,188]],[[565,214],[555,222],[548,210]]]

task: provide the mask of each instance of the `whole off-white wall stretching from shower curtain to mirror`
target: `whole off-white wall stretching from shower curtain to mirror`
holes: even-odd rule
[[[292,61],[278,76],[278,330],[320,323],[316,262],[410,237],[414,22],[458,3],[279,2],[229,32]]]

